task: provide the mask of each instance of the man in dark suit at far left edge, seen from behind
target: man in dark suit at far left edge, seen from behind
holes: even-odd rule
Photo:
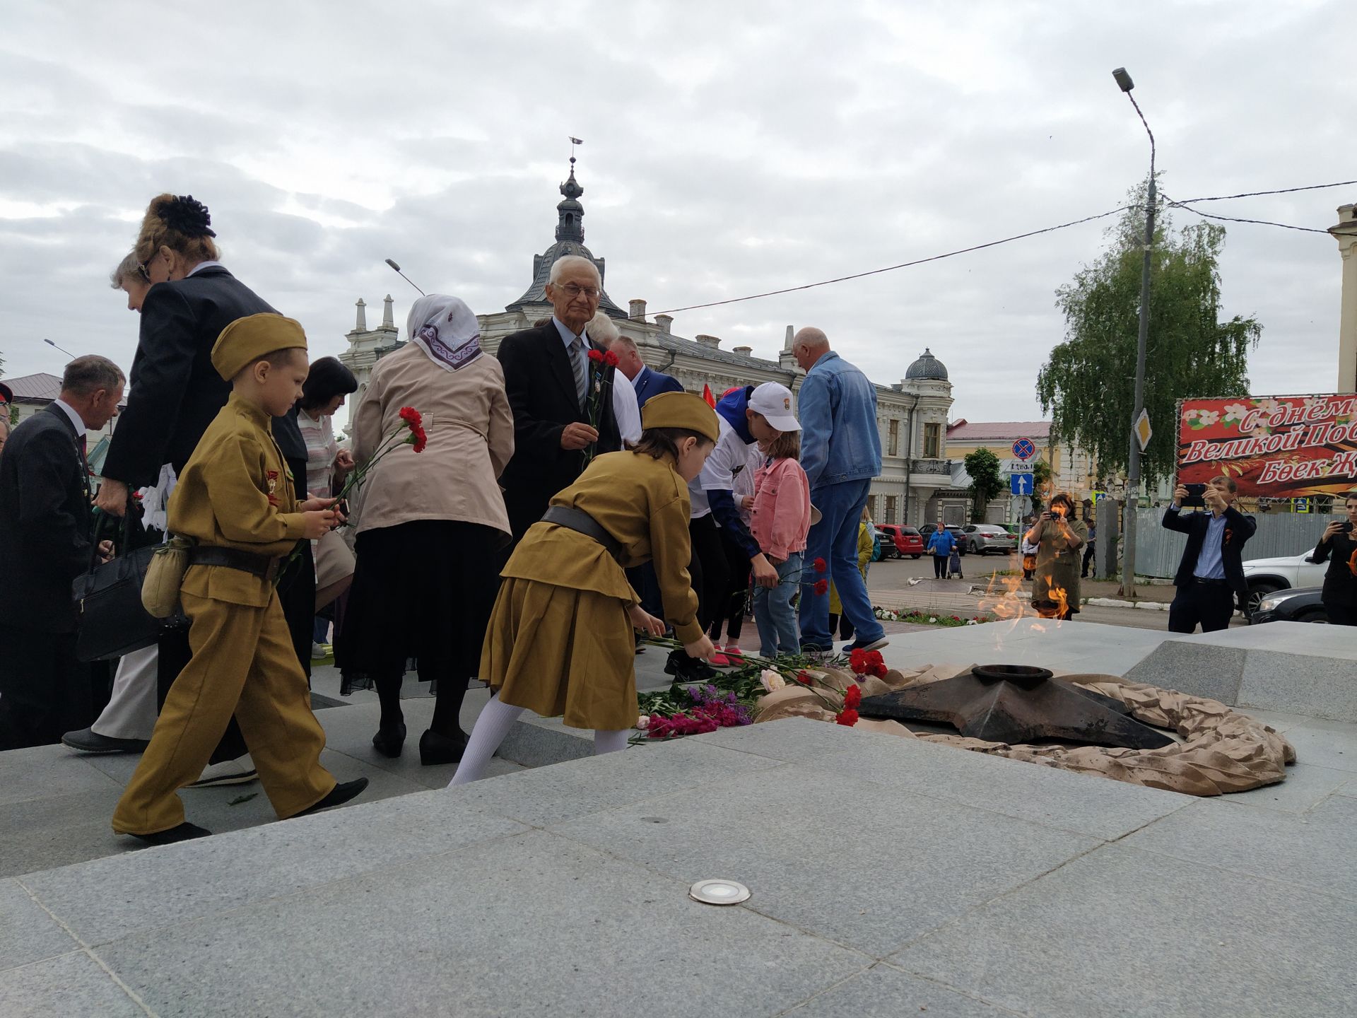
[[[94,719],[71,584],[95,554],[85,432],[109,423],[123,383],[106,357],[77,357],[0,456],[0,749],[58,742]]]

